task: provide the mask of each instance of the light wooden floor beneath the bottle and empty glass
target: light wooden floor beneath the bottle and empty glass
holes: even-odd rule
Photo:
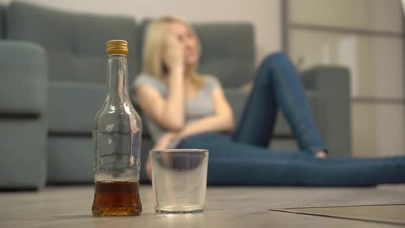
[[[143,213],[95,218],[93,186],[0,192],[0,227],[394,227],[386,223],[269,211],[291,207],[405,203],[405,185],[367,188],[209,187],[204,214],[154,214],[152,187],[141,186]]]

